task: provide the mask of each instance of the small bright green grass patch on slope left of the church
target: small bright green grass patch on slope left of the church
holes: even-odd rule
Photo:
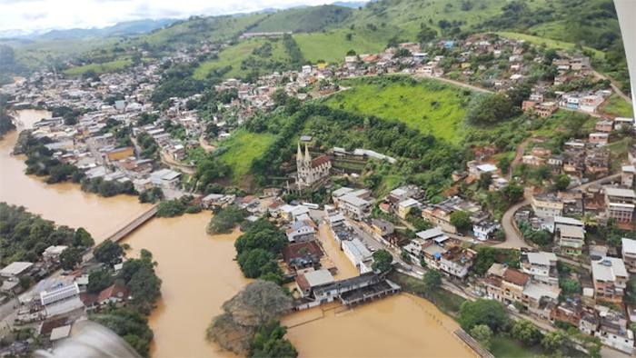
[[[273,143],[274,134],[253,134],[243,129],[235,131],[223,142],[221,147],[229,148],[221,159],[232,167],[232,182],[239,184],[249,174],[252,162]]]

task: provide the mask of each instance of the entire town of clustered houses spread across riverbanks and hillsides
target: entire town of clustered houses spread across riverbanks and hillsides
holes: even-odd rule
[[[282,35],[289,34],[248,32],[243,38]],[[205,114],[194,106],[204,93],[153,104],[165,64],[188,64],[222,48],[202,42],[196,52],[184,47],[176,55],[104,75],[38,72],[2,87],[1,93],[15,111],[54,113],[32,125],[15,124],[20,130],[32,128],[18,142],[25,136],[25,141],[44,143],[49,160],[74,167],[60,182],[73,176],[85,192],[136,194],[152,204],[108,240],[122,240],[163,202],[214,214],[236,207],[246,213],[246,223],[266,220],[285,234],[287,242],[275,261],[292,292],[294,312],[333,302],[347,308],[373,305],[406,290],[381,268],[377,253],[388,253],[395,273],[421,281],[428,272],[438,272],[441,289],[466,301],[498,301],[515,321],[528,320],[542,332],[573,327],[612,350],[633,352],[634,118],[603,111],[617,91],[591,68],[589,56],[554,51],[548,58],[536,55],[535,45],[526,41],[485,33],[350,54],[342,65],[303,65],[253,83],[227,79],[210,89],[222,99]],[[300,105],[348,91],[344,80],[372,76],[427,78],[505,94],[533,76],[533,64],[546,63],[558,73],[553,81],[535,82],[520,111],[540,119],[559,112],[585,114],[587,132],[581,135],[576,128],[576,137],[562,138],[571,128],[560,124],[552,133],[532,135],[506,164],[497,145],[473,147],[473,159],[452,173],[452,186],[442,197],[432,199],[426,187],[416,184],[373,197],[373,189],[361,184],[363,171],[344,164],[394,164],[398,159],[347,143],[316,144],[306,128],[294,140],[294,162],[285,164],[293,169],[272,186],[223,184],[220,190],[209,185],[201,190],[193,185],[206,155],[254,116],[277,111],[282,97],[287,106]],[[616,154],[616,143],[627,145],[624,153]],[[26,164],[27,174],[37,174],[37,158],[29,156]],[[53,178],[54,171],[49,172]],[[304,196],[307,191],[322,193],[322,202]],[[507,200],[502,210],[492,210],[492,197]],[[69,337],[89,313],[132,300],[125,284],[89,289],[94,270],[120,277],[123,263],[95,262],[94,250],[86,248],[81,264],[62,270],[60,257],[67,249],[51,245],[33,262],[15,261],[0,270],[2,324],[35,328],[38,340],[45,338],[44,347]],[[342,267],[343,258],[356,268],[353,275]],[[458,336],[478,355],[493,356],[479,339]],[[32,343],[2,344],[0,355],[23,354]]]

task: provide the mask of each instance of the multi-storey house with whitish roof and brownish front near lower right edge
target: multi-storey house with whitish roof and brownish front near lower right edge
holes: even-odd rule
[[[603,257],[600,261],[592,262],[591,275],[597,301],[622,303],[629,275],[621,259]]]

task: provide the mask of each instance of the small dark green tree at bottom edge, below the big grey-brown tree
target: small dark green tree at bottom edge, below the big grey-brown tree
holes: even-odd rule
[[[283,339],[285,333],[287,333],[287,327],[282,327],[278,321],[261,326],[258,333],[254,335],[251,356],[259,358],[297,357],[298,351],[293,344],[289,340]]]

